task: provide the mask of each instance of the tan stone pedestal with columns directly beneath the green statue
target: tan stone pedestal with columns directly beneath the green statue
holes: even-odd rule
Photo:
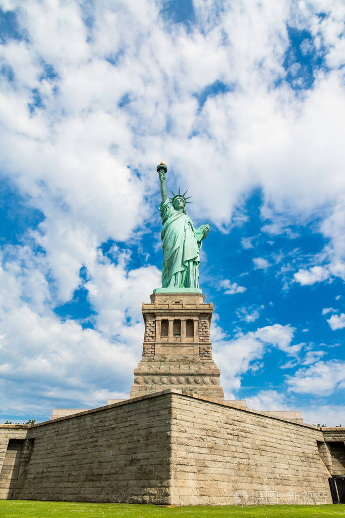
[[[224,399],[220,370],[212,359],[212,311],[200,290],[155,290],[151,304],[142,304],[143,357],[134,369],[130,398],[178,389]]]

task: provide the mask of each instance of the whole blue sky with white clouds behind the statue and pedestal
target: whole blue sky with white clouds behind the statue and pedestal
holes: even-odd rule
[[[164,161],[226,397],[344,424],[343,2],[1,4],[0,422],[129,396]]]

